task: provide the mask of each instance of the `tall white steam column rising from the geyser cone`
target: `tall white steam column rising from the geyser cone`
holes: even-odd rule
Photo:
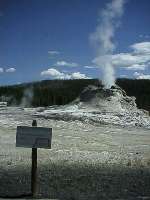
[[[109,58],[115,50],[113,39],[120,24],[124,3],[125,0],[113,0],[108,3],[100,14],[100,23],[96,32],[91,35],[91,40],[98,53],[93,62],[101,67],[103,71],[102,82],[106,88],[110,88],[115,83],[114,67]]]

